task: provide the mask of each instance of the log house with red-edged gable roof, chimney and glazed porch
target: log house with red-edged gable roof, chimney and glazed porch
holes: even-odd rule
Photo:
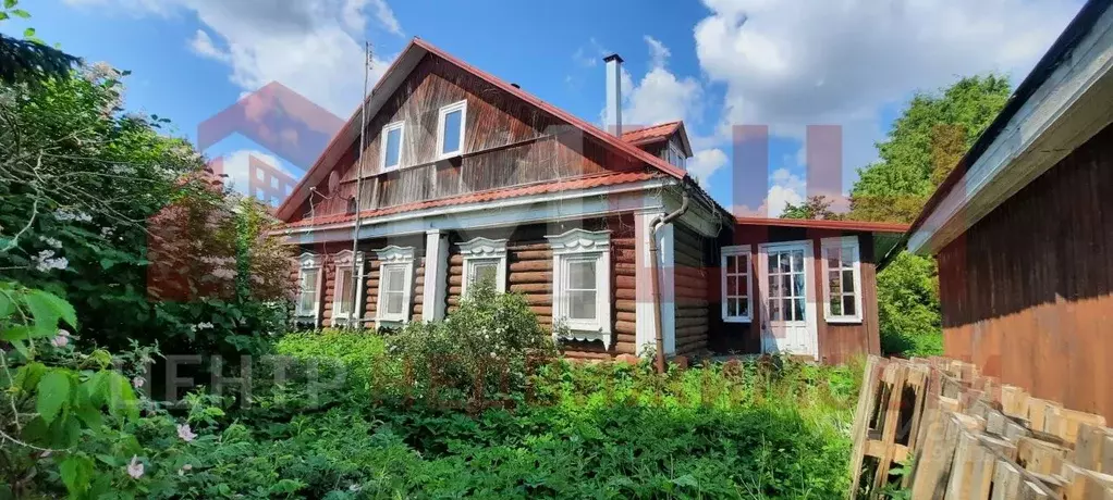
[[[439,320],[493,277],[570,357],[641,353],[658,322],[669,356],[877,352],[873,259],[905,228],[736,219],[688,176],[683,123],[622,129],[605,61],[608,131],[414,39],[277,210],[298,320]]]

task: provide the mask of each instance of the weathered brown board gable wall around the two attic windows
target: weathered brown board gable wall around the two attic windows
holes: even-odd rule
[[[440,109],[467,101],[463,156],[436,161]],[[380,172],[382,129],[404,120],[402,168]],[[607,150],[579,129],[434,56],[416,66],[387,103],[368,119],[361,208],[391,207],[511,186],[644,168]],[[358,142],[333,168],[342,180],[337,193],[327,176],[290,221],[345,213],[356,191]]]

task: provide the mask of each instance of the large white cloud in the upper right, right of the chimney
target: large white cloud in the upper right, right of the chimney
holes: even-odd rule
[[[707,77],[726,86],[718,136],[729,137],[733,124],[768,124],[772,136],[802,139],[808,124],[843,126],[846,182],[856,178],[854,169],[876,159],[874,142],[888,126],[879,122],[886,106],[959,76],[999,71],[1017,83],[1080,6],[1078,0],[703,2],[711,12],[695,28],[697,56]],[[770,203],[778,212],[784,206]]]

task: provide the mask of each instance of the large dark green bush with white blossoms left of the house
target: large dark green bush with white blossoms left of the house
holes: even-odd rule
[[[125,114],[126,76],[93,64],[0,87],[0,269],[73,303],[102,347],[250,351],[279,329],[288,282],[269,216],[166,119]]]

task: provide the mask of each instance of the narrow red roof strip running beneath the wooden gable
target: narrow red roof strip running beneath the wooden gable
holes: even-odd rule
[[[530,194],[544,194],[550,192],[559,192],[573,189],[599,188],[602,186],[617,186],[617,184],[624,184],[628,182],[638,182],[650,179],[657,179],[660,177],[662,177],[661,173],[652,171],[603,173],[598,176],[581,177],[561,181],[548,181],[544,183],[523,186],[516,188],[481,191],[470,194],[462,194],[459,197],[442,198],[439,200],[418,201],[415,203],[398,204],[377,210],[364,210],[363,212],[359,213],[359,218],[368,219],[373,217],[383,217],[394,213],[408,212],[413,210],[422,210],[436,207],[447,207],[447,206],[465,204],[465,203],[482,203],[485,201],[525,197]],[[334,216],[316,217],[313,219],[303,219],[297,222],[283,224],[280,228],[299,228],[306,226],[334,224],[334,223],[347,222],[351,220],[355,220],[355,213],[341,213]]]

